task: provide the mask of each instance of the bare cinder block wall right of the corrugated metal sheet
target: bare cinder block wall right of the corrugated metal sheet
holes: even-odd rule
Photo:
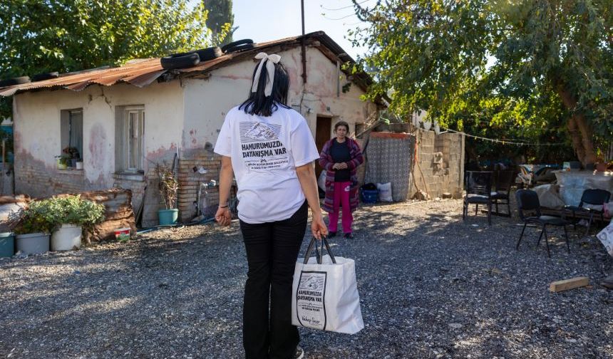
[[[416,135],[417,157],[413,168],[415,177],[411,180],[409,197],[413,197],[418,188],[427,192],[430,199],[443,197],[443,193],[450,193],[453,198],[461,198],[464,173],[462,135],[436,135],[433,131],[425,130],[418,130]]]

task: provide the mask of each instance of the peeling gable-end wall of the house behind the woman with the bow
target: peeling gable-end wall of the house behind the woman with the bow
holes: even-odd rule
[[[376,110],[373,103],[360,100],[364,91],[357,85],[352,84],[347,93],[343,93],[341,89],[339,97],[336,96],[336,63],[330,61],[317,48],[307,48],[308,77],[303,99],[300,48],[278,53],[289,72],[289,105],[302,113],[314,136],[318,115],[331,118],[332,129],[334,123],[344,120],[349,123],[350,132],[354,132],[356,123],[364,123]],[[182,145],[185,151],[181,156],[180,187],[185,190],[179,198],[180,216],[184,221],[195,215],[194,204],[199,184],[208,180],[219,180],[220,160],[212,153],[212,147],[215,146],[227,110],[242,103],[249,95],[257,63],[258,61],[242,61],[212,71],[209,78],[190,78],[184,81],[185,124]],[[341,88],[347,82],[341,71]],[[331,131],[330,137],[332,135]],[[200,165],[206,167],[209,172],[205,175],[193,172],[192,168]],[[211,190],[208,192],[217,203],[217,197],[212,195]]]

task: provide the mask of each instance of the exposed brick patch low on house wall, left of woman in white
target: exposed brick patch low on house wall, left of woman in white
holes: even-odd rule
[[[220,180],[221,156],[208,149],[194,149],[186,151],[179,160],[179,219],[181,222],[190,222],[197,213],[197,195],[201,183]],[[207,172],[200,174],[194,167],[202,166]],[[207,204],[216,206],[219,202],[218,188],[206,189]],[[202,191],[201,196],[205,193]],[[202,202],[201,197],[201,202]]]

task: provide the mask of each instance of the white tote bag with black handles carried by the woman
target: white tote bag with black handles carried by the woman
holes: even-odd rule
[[[355,334],[364,328],[353,259],[335,257],[326,239],[321,251],[311,239],[305,259],[298,259],[292,286],[292,324]],[[324,244],[328,254],[323,256]],[[315,246],[316,257],[309,258]]]

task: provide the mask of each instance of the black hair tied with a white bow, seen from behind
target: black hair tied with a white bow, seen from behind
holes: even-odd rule
[[[270,61],[270,60],[267,60]],[[259,66],[259,63],[258,63]],[[257,72],[257,66],[254,68],[252,81],[255,80],[255,73]],[[266,81],[268,78],[268,71],[266,69],[266,63],[262,66],[262,71],[259,73],[259,79],[257,79],[257,91],[251,92],[249,87],[249,98],[239,106],[239,110],[244,110],[249,115],[259,115],[268,117],[277,110],[280,105],[282,108],[289,108],[287,105],[287,93],[289,91],[289,75],[285,70],[282,63],[274,64],[274,80],[272,81],[272,93],[266,97],[264,95],[264,88],[266,88]],[[252,82],[253,83],[253,82]]]

